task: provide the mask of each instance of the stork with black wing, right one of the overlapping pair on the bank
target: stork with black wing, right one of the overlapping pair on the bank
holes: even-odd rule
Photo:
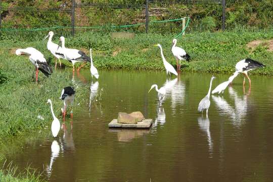
[[[84,62],[84,64],[82,64],[77,69],[77,72],[79,72],[79,70],[86,64],[86,62],[91,62],[90,58],[88,56],[86,56],[85,53],[83,53],[82,51],[79,51],[77,49],[65,48],[65,37],[63,37],[63,36],[60,37],[59,47],[61,47],[63,49],[62,52],[64,54],[65,59],[67,59],[68,61],[70,61],[72,63],[73,74],[75,72],[74,64],[76,62]],[[58,52],[58,50],[57,50],[57,52]]]

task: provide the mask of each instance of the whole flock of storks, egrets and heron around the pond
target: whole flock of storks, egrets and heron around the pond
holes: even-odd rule
[[[57,59],[59,60],[60,66],[61,66],[60,59],[65,59],[65,60],[69,61],[70,63],[72,63],[73,76],[74,76],[74,72],[75,72],[74,64],[76,62],[83,63],[77,69],[77,72],[79,72],[79,70],[87,62],[90,62],[90,72],[91,72],[91,75],[92,75],[92,79],[93,79],[93,76],[96,79],[99,78],[98,70],[93,64],[92,49],[90,49],[90,57],[88,57],[84,52],[82,52],[80,50],[66,48],[65,47],[65,38],[63,36],[60,37],[59,44],[54,43],[52,41],[53,35],[54,35],[53,31],[50,31],[49,34],[46,37],[44,37],[44,39],[49,38],[47,48],[53,54],[53,56],[55,57],[55,60],[56,60],[55,69],[57,68]],[[163,55],[163,50],[162,50],[161,45],[160,44],[155,45],[156,47],[160,48],[160,53],[161,53],[161,57],[162,57],[162,60],[163,60],[164,67],[165,67],[166,72],[167,72],[167,76],[168,76],[168,74],[171,76],[171,73],[174,74],[175,76],[178,76],[179,71],[180,71],[181,61],[188,61],[188,62],[190,61],[189,54],[187,54],[184,49],[176,47],[176,43],[177,43],[177,40],[173,39],[172,40],[172,45],[171,45],[171,52],[172,52],[173,56],[176,59],[177,71],[174,69],[174,67],[170,63],[168,63],[166,61],[166,59],[165,59],[165,57]],[[18,55],[18,56],[20,56],[20,55],[29,56],[30,62],[35,66],[36,83],[38,82],[38,71],[39,70],[47,77],[53,73],[52,68],[48,65],[48,63],[45,60],[43,54],[40,53],[35,48],[18,49],[18,50],[16,50],[16,55]],[[208,117],[208,109],[209,109],[209,106],[210,106],[210,93],[212,93],[212,94],[215,94],[215,93],[223,94],[224,89],[229,84],[232,83],[233,79],[239,73],[243,73],[244,76],[245,76],[244,81],[243,81],[243,85],[245,85],[245,78],[247,78],[248,81],[249,81],[249,86],[251,86],[251,80],[250,80],[250,78],[248,76],[248,71],[253,70],[255,68],[260,68],[260,67],[263,67],[263,66],[264,65],[262,63],[259,63],[258,61],[255,61],[255,60],[252,60],[252,59],[249,59],[249,58],[241,60],[235,65],[235,72],[231,77],[229,77],[228,81],[225,81],[225,82],[219,84],[211,92],[212,81],[215,78],[214,76],[212,76],[211,80],[210,80],[208,94],[200,101],[199,106],[198,106],[198,111],[202,112],[202,114],[203,114],[203,111],[206,110],[206,116]],[[153,84],[151,86],[149,92],[154,87],[155,87],[156,91],[158,92],[159,104],[161,104],[164,101],[164,97],[165,97],[165,94],[166,94],[166,89],[164,87],[161,87],[161,88],[158,89],[157,84]],[[61,108],[61,111],[63,113],[63,118],[65,118],[65,116],[66,116],[67,107],[69,105],[72,106],[74,98],[75,98],[74,88],[72,86],[64,87],[63,90],[62,90],[62,93],[61,93],[61,97],[60,97],[60,99],[62,99],[63,102],[64,102],[64,108]],[[58,133],[59,133],[59,130],[60,130],[60,121],[54,114],[52,101],[50,99],[48,99],[48,103],[50,103],[51,112],[52,112],[52,116],[53,116],[53,119],[54,119],[53,122],[52,122],[52,126],[51,126],[52,135],[54,137],[56,137],[58,135]],[[73,117],[73,112],[71,110],[71,118],[72,117]]]

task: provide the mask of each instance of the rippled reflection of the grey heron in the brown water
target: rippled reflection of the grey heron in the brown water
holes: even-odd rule
[[[209,118],[208,117],[207,118],[199,117],[198,118],[198,125],[199,125],[200,129],[202,131],[206,132],[206,134],[207,134],[209,153],[210,153],[210,157],[212,157],[213,143],[212,143],[210,130],[209,130],[209,125],[210,125]]]

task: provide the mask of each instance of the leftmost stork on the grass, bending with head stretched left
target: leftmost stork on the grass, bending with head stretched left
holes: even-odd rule
[[[40,70],[47,77],[53,73],[51,67],[47,63],[47,60],[45,60],[43,57],[43,54],[41,54],[35,48],[18,49],[16,50],[15,54],[17,56],[29,56],[30,62],[35,66],[36,69],[36,83],[38,82],[38,70]]]

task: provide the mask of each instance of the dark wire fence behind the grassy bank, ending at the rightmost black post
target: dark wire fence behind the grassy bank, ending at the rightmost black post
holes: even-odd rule
[[[189,31],[224,29],[224,0],[34,2],[0,0],[1,31],[18,34],[54,30],[63,35],[87,30],[179,33],[182,17],[191,18]],[[203,13],[208,11],[213,11],[213,18]]]

